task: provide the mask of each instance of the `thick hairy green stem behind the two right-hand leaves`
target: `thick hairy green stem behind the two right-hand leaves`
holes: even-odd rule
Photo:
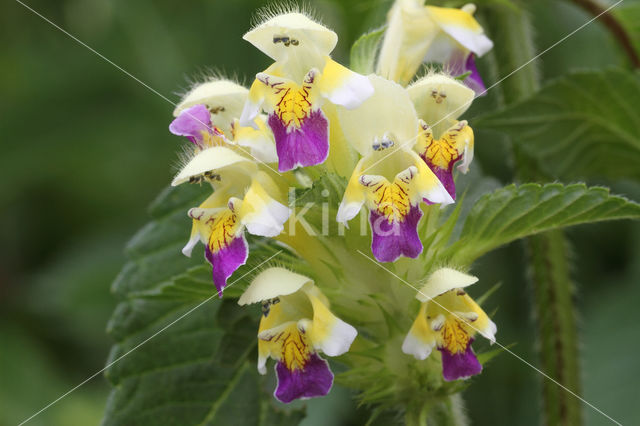
[[[495,30],[496,65],[507,75],[535,56],[531,25],[525,11],[496,7],[490,30]],[[504,41],[504,44],[501,42]],[[505,104],[533,94],[539,87],[535,61],[502,83]],[[521,181],[547,180],[536,162],[513,141],[516,178]],[[529,277],[534,299],[542,370],[559,383],[580,393],[579,347],[574,286],[570,278],[569,243],[561,230],[530,237],[526,241]],[[580,401],[555,383],[543,379],[543,422],[548,425],[582,424]]]

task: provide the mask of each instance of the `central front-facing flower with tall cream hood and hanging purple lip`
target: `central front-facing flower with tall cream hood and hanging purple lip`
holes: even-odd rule
[[[376,259],[415,258],[422,252],[419,204],[449,204],[453,199],[412,149],[419,127],[407,91],[382,77],[369,79],[374,95],[358,109],[340,114],[345,138],[363,157],[349,179],[336,220],[347,222],[366,205]]]

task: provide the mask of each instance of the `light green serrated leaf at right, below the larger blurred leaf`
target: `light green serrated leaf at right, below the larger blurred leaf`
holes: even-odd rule
[[[443,254],[469,265],[511,241],[552,229],[640,218],[640,204],[584,184],[509,185],[482,197],[465,220],[462,238]]]

